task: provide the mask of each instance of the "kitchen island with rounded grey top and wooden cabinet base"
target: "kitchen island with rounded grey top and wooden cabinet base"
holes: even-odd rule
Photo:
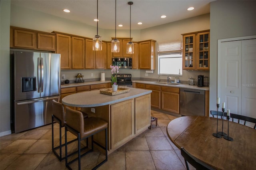
[[[62,99],[71,107],[81,107],[89,117],[98,117],[108,122],[108,154],[138,136],[150,126],[151,90],[130,89],[127,93],[106,95],[100,90],[75,93]],[[104,132],[94,139],[104,145]]]

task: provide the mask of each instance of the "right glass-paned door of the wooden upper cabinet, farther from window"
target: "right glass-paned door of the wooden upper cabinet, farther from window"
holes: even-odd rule
[[[210,32],[202,32],[197,34],[198,48],[198,59],[197,69],[210,69]]]

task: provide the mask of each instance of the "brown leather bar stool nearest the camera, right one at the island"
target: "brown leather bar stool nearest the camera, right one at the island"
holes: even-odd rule
[[[66,152],[66,167],[68,169],[70,168],[70,164],[76,160],[78,160],[78,169],[81,169],[81,157],[85,156],[86,154],[93,151],[93,144],[97,144],[101,148],[105,150],[106,158],[100,162],[100,164],[96,165],[93,169],[97,169],[100,167],[104,162],[108,161],[108,123],[103,121],[102,119],[96,118],[96,117],[89,117],[87,119],[83,118],[83,115],[80,111],[75,111],[73,109],[70,109],[66,107],[66,125],[65,125],[65,152]],[[93,135],[101,132],[102,130],[105,130],[105,147],[99,144],[98,142],[93,140]],[[70,155],[67,154],[67,131],[70,131],[72,134],[77,136],[76,140],[78,140],[78,158],[75,158],[68,162],[68,157]],[[81,155],[80,148],[81,148],[81,140],[88,140],[88,138],[91,136],[91,142],[92,142],[92,149],[85,152]],[[88,146],[88,145],[87,145]]]

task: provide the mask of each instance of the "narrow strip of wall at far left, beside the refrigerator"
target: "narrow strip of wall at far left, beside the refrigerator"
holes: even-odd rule
[[[0,1],[0,136],[10,134],[10,1]]]

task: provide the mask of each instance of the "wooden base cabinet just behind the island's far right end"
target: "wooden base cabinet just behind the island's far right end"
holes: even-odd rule
[[[151,107],[161,109],[161,86],[146,84],[146,89],[152,90]]]

